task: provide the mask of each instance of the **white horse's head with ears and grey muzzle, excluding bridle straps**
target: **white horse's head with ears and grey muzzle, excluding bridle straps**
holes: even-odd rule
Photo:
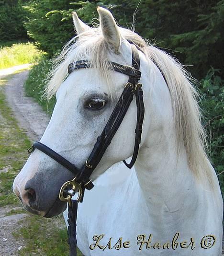
[[[56,94],[56,105],[51,120],[40,142],[47,145],[80,168],[88,158],[97,137],[105,127],[129,77],[112,70],[110,62],[132,66],[132,43],[138,47],[144,40],[130,30],[117,26],[112,14],[98,8],[100,26],[90,28],[73,13],[78,33],[58,58],[51,81],[46,88],[48,98]],[[135,47],[135,46],[134,46]],[[141,82],[149,75],[145,55],[140,56]],[[64,61],[60,61],[64,59]],[[74,70],[67,75],[68,65],[88,60],[92,68]],[[144,87],[149,94],[150,88]],[[168,90],[167,90],[168,91]],[[147,105],[147,104],[146,104]],[[114,163],[129,158],[133,153],[136,103],[133,101],[123,122],[101,162],[91,175],[94,181]],[[148,118],[145,120],[148,124]],[[146,139],[145,125],[142,144]],[[25,209],[45,217],[61,213],[66,204],[59,200],[60,187],[73,174],[41,151],[35,150],[17,175],[14,193]]]

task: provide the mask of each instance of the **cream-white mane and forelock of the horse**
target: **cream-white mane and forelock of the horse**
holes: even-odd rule
[[[206,140],[196,101],[197,93],[190,83],[188,73],[178,61],[150,45],[136,33],[123,28],[119,28],[119,30],[124,39],[141,47],[146,58],[153,60],[163,72],[172,100],[178,149],[184,146],[190,169],[195,177],[200,181],[206,179],[213,184],[211,165],[204,150]],[[55,60],[45,95],[48,99],[55,95],[61,83],[67,78],[68,65],[80,59],[91,60],[92,65],[97,68],[99,76],[104,78],[107,84],[111,84],[111,67],[108,65],[107,56],[107,43],[99,28],[92,28],[74,37]]]

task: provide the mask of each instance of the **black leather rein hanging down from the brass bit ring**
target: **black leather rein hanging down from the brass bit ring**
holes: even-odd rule
[[[71,200],[71,206],[68,205],[68,244],[69,256],[77,256],[77,240],[76,240],[76,220],[77,220],[78,202]]]

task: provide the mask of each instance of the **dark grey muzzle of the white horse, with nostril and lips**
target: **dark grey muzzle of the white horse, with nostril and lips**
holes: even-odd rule
[[[15,181],[13,191],[22,202],[24,209],[33,214],[51,218],[66,209],[67,203],[59,199],[59,191],[61,186],[72,178],[73,175],[64,169],[63,172],[55,168],[39,170],[28,181],[23,181],[24,183],[21,182],[21,178],[18,179],[20,183]]]

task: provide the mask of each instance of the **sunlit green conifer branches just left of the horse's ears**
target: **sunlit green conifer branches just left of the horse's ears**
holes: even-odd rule
[[[69,2],[70,0],[32,0],[24,7],[28,12],[28,20],[25,22],[28,35],[51,56],[74,36],[74,30],[71,19],[61,22],[60,11],[46,14],[55,9],[69,9]]]

